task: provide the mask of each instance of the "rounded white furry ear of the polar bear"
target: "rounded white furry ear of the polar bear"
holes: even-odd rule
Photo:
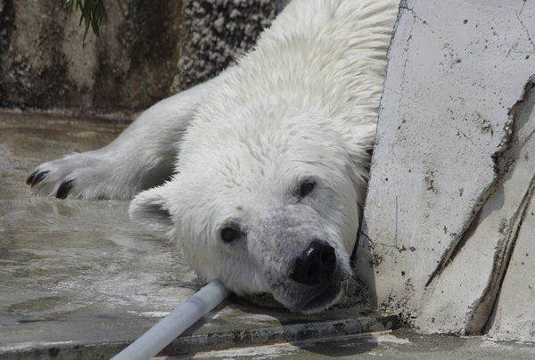
[[[174,229],[169,204],[164,196],[164,186],[140,192],[130,204],[132,221],[143,225],[160,237],[170,237]]]

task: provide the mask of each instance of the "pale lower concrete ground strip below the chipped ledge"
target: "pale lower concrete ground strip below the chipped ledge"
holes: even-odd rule
[[[458,338],[386,331],[319,341],[298,341],[265,347],[203,351],[187,356],[161,356],[152,360],[284,359],[284,360],[525,360],[535,358],[535,346],[485,337]]]

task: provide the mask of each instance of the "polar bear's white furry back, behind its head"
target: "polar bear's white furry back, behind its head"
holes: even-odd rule
[[[284,99],[326,110],[349,127],[375,124],[397,8],[391,0],[292,1],[255,51],[226,71],[207,108],[225,118],[237,104]]]

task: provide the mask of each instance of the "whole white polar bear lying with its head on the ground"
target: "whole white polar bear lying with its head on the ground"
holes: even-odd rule
[[[27,183],[58,198],[140,192],[132,219],[204,281],[321,311],[352,274],[397,13],[395,0],[294,0],[218,78]]]

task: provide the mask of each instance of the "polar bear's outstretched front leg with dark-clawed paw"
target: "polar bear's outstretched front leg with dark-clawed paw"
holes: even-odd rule
[[[57,198],[131,199],[174,171],[177,144],[210,80],[154,104],[102,149],[73,153],[35,168],[26,183]]]

